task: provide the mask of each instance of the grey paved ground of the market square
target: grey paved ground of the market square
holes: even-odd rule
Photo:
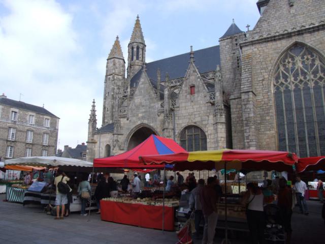
[[[40,206],[25,206],[3,202],[0,195],[0,243],[176,243],[175,232],[120,225],[100,220],[100,216],[88,217],[72,214],[64,220],[54,220],[42,212]],[[325,225],[320,216],[321,204],[308,201],[309,216],[293,215],[293,243],[324,243]],[[215,243],[221,243],[223,231],[219,230]],[[231,233],[230,233],[231,235]],[[230,236],[232,244],[248,243],[247,236]],[[195,241],[195,244],[201,241]]]

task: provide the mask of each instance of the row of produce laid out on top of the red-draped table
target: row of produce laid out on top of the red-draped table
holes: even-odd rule
[[[154,205],[154,206],[163,206],[163,198],[155,198],[155,197],[145,197],[145,198],[134,198],[134,197],[108,197],[103,198],[104,201],[112,201],[112,202],[122,202],[122,203],[131,203],[131,204],[143,204],[143,205]],[[165,206],[174,207],[178,206],[179,200],[174,198],[166,198]]]

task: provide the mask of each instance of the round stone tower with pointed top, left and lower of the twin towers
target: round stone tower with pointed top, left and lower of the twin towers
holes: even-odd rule
[[[125,61],[118,36],[107,58],[104,82],[103,124],[111,124],[118,113],[118,99],[123,93]]]

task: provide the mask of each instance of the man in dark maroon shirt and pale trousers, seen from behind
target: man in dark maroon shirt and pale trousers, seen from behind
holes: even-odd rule
[[[203,187],[200,192],[200,202],[202,206],[202,211],[204,215],[204,230],[202,244],[212,244],[215,228],[218,221],[218,209],[217,201],[218,197],[214,190],[215,179],[214,177],[209,177],[207,181],[207,186]]]

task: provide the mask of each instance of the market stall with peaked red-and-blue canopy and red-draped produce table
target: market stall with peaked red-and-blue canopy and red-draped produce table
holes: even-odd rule
[[[174,140],[156,135],[151,135],[135,148],[126,151],[123,154],[112,156],[109,158],[94,159],[94,167],[109,168],[126,168],[135,171],[148,172],[151,169],[164,169],[165,165],[144,165],[139,161],[139,157],[143,155],[165,155],[185,152]],[[172,166],[168,166],[170,169]],[[165,187],[164,187],[165,189]],[[164,190],[163,189],[163,190]],[[117,200],[112,198],[101,201],[101,219],[104,221],[112,221],[116,223],[142,226],[155,229],[174,229],[174,207],[178,206],[178,199],[174,201],[173,206],[164,206],[165,191],[148,189],[142,192],[143,195],[137,197],[136,200],[127,200],[118,197]],[[161,202],[143,199],[160,198]],[[125,194],[123,194],[125,195]],[[113,198],[114,199],[114,198]],[[150,203],[149,203],[150,202]],[[103,203],[103,205],[102,205]],[[140,204],[141,203],[141,204]],[[148,204],[147,204],[148,203]],[[114,210],[112,210],[114,209]],[[140,217],[140,215],[143,217]]]

